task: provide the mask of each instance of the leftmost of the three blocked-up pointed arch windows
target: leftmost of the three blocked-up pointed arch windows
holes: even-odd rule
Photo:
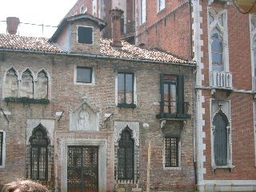
[[[18,75],[14,68],[6,72],[6,97],[18,97]]]

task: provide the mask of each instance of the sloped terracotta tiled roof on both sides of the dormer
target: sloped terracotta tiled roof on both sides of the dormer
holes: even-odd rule
[[[112,39],[101,40],[101,55],[114,58],[131,58],[156,62],[174,62],[195,65],[195,62],[190,62],[181,58],[177,58],[172,54],[165,53],[159,50],[142,49],[138,46],[131,45],[126,41],[122,41],[122,48],[117,49],[113,46],[110,46],[111,42]],[[0,34],[0,49],[66,53],[53,42],[50,42],[47,38],[22,37],[10,34]]]

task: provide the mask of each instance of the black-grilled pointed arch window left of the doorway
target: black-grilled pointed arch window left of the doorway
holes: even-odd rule
[[[50,146],[46,130],[42,126],[36,127],[30,137],[30,145],[27,146],[27,178],[41,181],[47,181],[51,178],[52,150],[53,147]]]

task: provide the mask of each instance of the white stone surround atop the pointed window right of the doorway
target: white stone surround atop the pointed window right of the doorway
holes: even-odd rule
[[[114,122],[114,145],[118,146],[122,130],[127,126],[133,131],[132,138],[134,138],[135,146],[139,146],[139,122]]]

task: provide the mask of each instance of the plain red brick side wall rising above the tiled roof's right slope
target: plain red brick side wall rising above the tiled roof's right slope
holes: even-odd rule
[[[147,1],[146,22],[139,25],[137,5],[136,44],[169,51],[182,58],[191,58],[190,5],[188,2],[166,0],[166,8],[157,13],[157,1]]]

